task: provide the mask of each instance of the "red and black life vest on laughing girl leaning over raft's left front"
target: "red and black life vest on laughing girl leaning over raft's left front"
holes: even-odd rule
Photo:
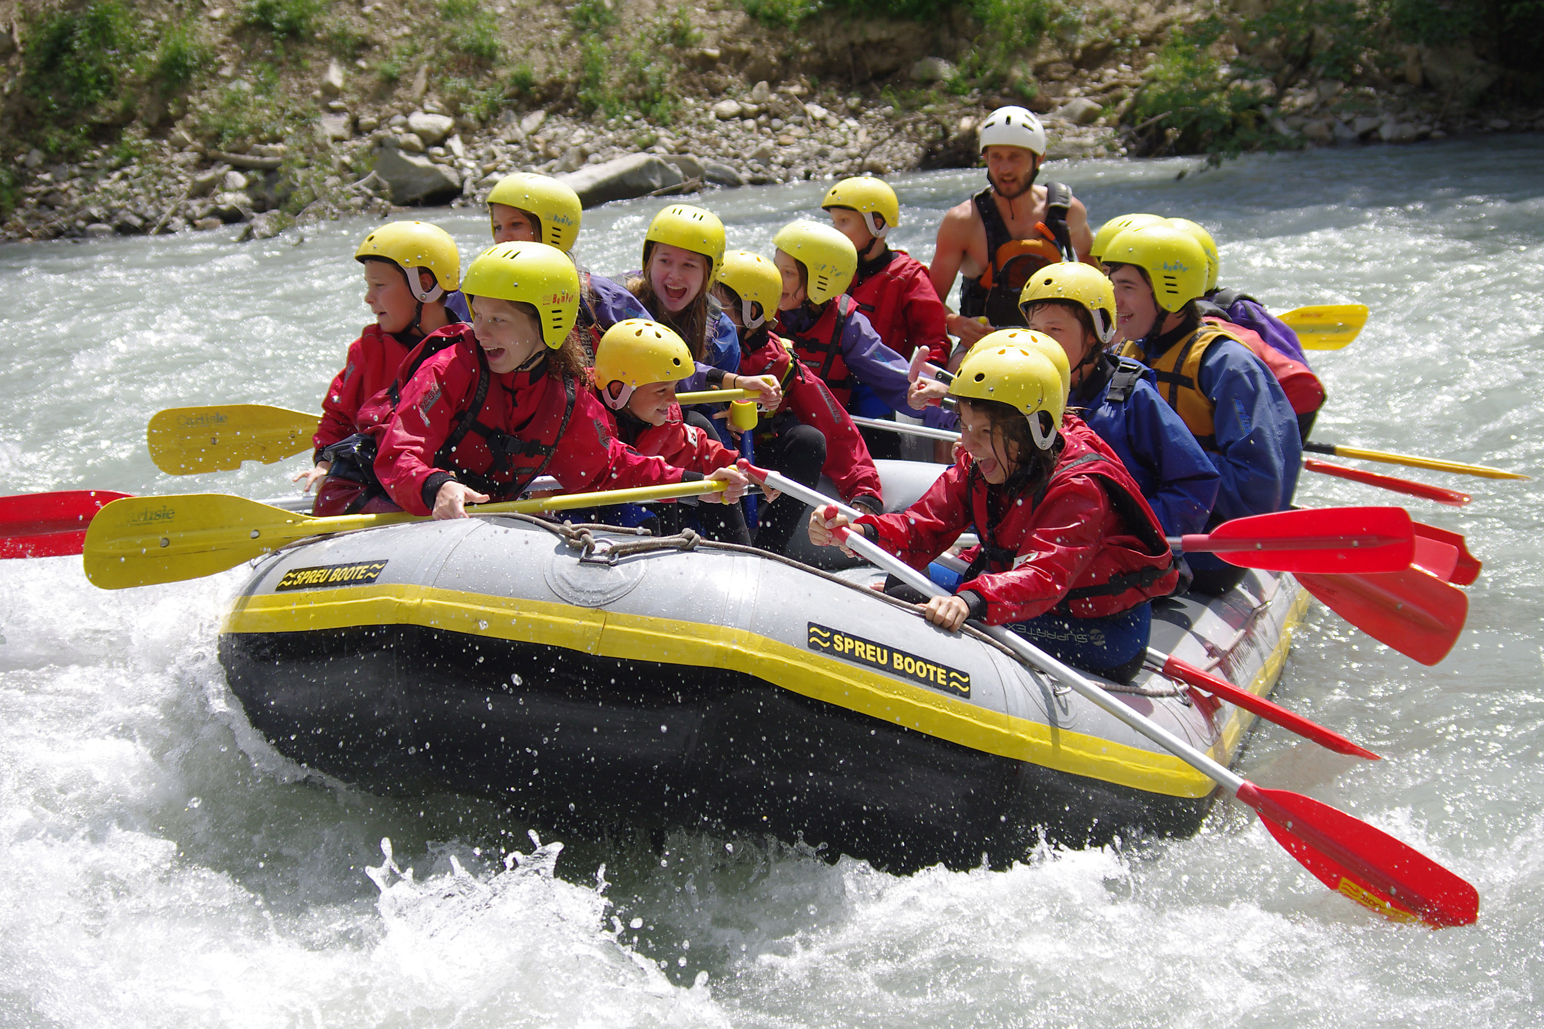
[[[553,389],[545,392],[542,406],[520,427],[527,435],[493,429],[479,421],[479,415],[482,415],[483,404],[488,400],[493,370],[488,367],[488,355],[483,349],[476,344],[472,349],[477,353],[477,390],[472,393],[472,401],[466,410],[457,417],[451,435],[445,438],[445,443],[435,452],[434,466],[454,472],[457,481],[471,486],[480,494],[488,494],[494,501],[513,500],[523,494],[533,481],[540,478],[547,472],[547,466],[553,463],[553,455],[557,452],[557,440],[568,429],[568,420],[574,413],[574,381],[565,375],[562,376],[562,393]],[[540,375],[551,375],[550,369],[551,366],[543,361]],[[540,378],[540,375],[536,378]],[[462,457],[472,457],[476,454],[460,452],[469,435],[482,440],[486,454],[493,458],[480,471],[466,467],[460,460]],[[482,455],[477,457],[480,458]],[[476,458],[468,463],[482,464]]]

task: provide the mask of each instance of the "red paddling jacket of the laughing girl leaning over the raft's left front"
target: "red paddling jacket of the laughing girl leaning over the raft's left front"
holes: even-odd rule
[[[548,472],[568,492],[699,478],[625,446],[588,386],[550,375],[545,358],[497,373],[468,326],[440,329],[420,346],[443,342],[442,335],[454,344],[423,361],[372,430],[375,475],[403,511],[434,511],[451,478],[494,500],[513,500]]]

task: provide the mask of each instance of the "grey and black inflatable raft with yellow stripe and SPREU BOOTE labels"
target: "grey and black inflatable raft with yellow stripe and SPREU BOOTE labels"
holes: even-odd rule
[[[939,471],[885,464],[896,506]],[[219,656],[289,757],[564,832],[774,833],[905,872],[1200,827],[1209,779],[877,579],[525,517],[414,523],[264,558]],[[1305,608],[1249,572],[1160,602],[1152,645],[1266,694]],[[1223,764],[1254,720],[1158,673],[1112,688]]]

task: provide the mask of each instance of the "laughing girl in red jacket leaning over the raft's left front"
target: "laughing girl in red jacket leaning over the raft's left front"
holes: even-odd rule
[[[500,244],[466,273],[472,326],[403,386],[380,430],[375,474],[403,511],[463,518],[468,503],[519,497],[551,474],[568,492],[703,478],[641,457],[607,430],[573,333],[579,273],[545,244]],[[431,341],[426,339],[428,347]],[[709,478],[746,486],[733,469]]]

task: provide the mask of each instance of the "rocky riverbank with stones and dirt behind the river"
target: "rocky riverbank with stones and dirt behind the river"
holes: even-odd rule
[[[250,14],[252,3],[244,9]],[[471,9],[483,17],[476,3]],[[547,28],[581,43],[576,9],[562,28]],[[976,162],[977,120],[1008,102],[1041,111],[1053,159],[1172,153],[1180,136],[1163,134],[1169,111],[1141,122],[1133,113],[1146,111],[1143,96],[1149,93],[1150,103],[1153,82],[1169,74],[1166,62],[1173,63],[1177,52],[1190,57],[1175,48],[1186,26],[1215,15],[1184,3],[1112,2],[1106,9],[1124,12],[1127,35],[1119,45],[1076,34],[1047,39],[1010,74],[971,79],[962,66],[980,43],[968,19],[917,39],[897,32],[902,23],[824,15],[826,23],[801,29],[801,46],[789,46],[787,32],[780,39],[740,8],[681,8],[672,15],[664,5],[641,3],[607,25],[613,39],[652,39],[669,57],[659,74],[673,91],[648,93],[607,79],[610,93],[598,94],[584,85],[594,85],[593,68],[564,63],[547,49],[536,52],[537,66],[522,63],[503,77],[503,65],[489,65],[476,79],[476,69],[472,77],[431,74],[428,62],[406,76],[398,60],[406,51],[392,40],[423,17],[406,3],[400,9],[366,3],[337,15],[357,31],[360,42],[349,52],[363,56],[355,60],[295,60],[292,48],[283,66],[259,60],[262,48],[241,49],[252,39],[250,17],[242,29],[224,9],[205,6],[198,31],[216,37],[207,57],[219,66],[205,73],[202,86],[164,102],[156,119],[141,106],[116,143],[88,142],[62,153],[56,147],[51,156],[46,133],[34,131],[39,142],[0,150],[6,176],[0,185],[8,184],[12,201],[0,236],[96,238],[242,222],[242,238],[264,238],[317,218],[477,204],[516,170],[565,176],[587,204],[598,204],[957,167]],[[506,8],[493,8],[499,12]],[[530,14],[537,20],[533,31],[551,17]],[[661,20],[669,17],[676,22]],[[452,29],[471,31],[468,25],[455,22]],[[23,28],[12,19],[5,34],[6,96],[26,88]],[[1203,49],[1214,63],[1195,74],[1212,76],[1223,96],[1248,96],[1241,110],[1258,122],[1252,145],[1413,143],[1544,130],[1544,108],[1484,102],[1496,74],[1471,49],[1411,48],[1399,79],[1363,71],[1354,82],[1312,69],[1244,77],[1246,54],[1237,39],[1197,52]],[[604,52],[622,54],[616,46]],[[638,52],[622,57],[636,63]],[[866,54],[863,68],[854,63],[855,52]],[[843,62],[849,74],[834,77]],[[270,108],[279,114],[261,117]],[[8,108],[12,127],[25,110]],[[232,127],[229,111],[247,111],[245,122]]]

